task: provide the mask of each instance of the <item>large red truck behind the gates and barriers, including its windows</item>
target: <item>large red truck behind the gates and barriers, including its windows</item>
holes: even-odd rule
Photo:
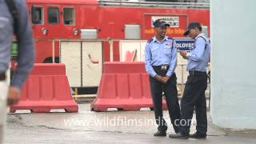
[[[183,30],[193,21],[201,22],[210,34],[208,5],[182,2],[177,2],[179,5],[174,2],[162,2],[161,5],[159,2],[125,3],[97,0],[26,1],[35,39],[147,39],[154,35],[152,21],[156,18],[166,18],[170,22],[167,35],[171,37],[182,37]],[[58,62],[59,44],[55,42],[54,45],[54,56]],[[37,41],[36,62],[51,62],[52,46],[50,41]],[[108,50],[105,45],[105,62],[110,61]],[[114,42],[114,61],[118,60],[118,42]]]

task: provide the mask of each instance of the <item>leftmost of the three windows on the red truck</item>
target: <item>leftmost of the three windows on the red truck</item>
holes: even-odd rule
[[[32,6],[31,19],[33,24],[42,24],[42,7]]]

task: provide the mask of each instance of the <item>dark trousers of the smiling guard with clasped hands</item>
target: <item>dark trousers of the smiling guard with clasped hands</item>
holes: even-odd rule
[[[162,92],[164,92],[171,123],[174,126],[175,132],[178,132],[178,126],[175,126],[175,122],[179,123],[181,114],[178,104],[178,90],[176,84],[177,78],[175,74],[170,77],[170,80],[166,84],[150,77],[151,95],[154,103],[154,116],[158,124],[158,130],[167,130],[166,121],[162,117]]]

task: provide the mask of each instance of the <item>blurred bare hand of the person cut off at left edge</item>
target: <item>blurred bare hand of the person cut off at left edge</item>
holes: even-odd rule
[[[18,103],[20,97],[20,90],[17,87],[10,86],[7,95],[7,105],[12,106]]]

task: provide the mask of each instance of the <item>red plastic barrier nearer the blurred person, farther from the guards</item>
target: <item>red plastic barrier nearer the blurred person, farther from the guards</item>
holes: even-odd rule
[[[44,113],[52,109],[78,112],[78,105],[70,93],[65,65],[35,64],[22,88],[20,101],[10,107],[10,112],[31,110]]]

